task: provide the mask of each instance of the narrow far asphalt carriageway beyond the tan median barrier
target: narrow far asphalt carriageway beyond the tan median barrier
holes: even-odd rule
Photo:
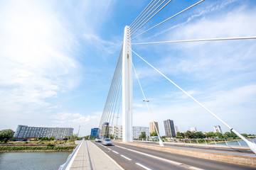
[[[142,143],[147,145],[159,145],[159,142],[137,142],[137,143]],[[254,154],[250,149],[242,149],[242,148],[237,149],[233,147],[225,147],[225,148],[214,147],[214,145],[208,146],[208,147],[194,146],[194,145],[171,145],[166,143],[164,145],[168,147],[183,147],[183,148],[193,148],[193,149],[202,149],[202,150],[215,150],[215,151],[223,151],[223,152],[238,152],[238,153],[244,153],[244,154]]]

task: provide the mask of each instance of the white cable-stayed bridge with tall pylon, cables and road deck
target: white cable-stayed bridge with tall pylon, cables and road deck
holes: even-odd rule
[[[114,75],[112,77],[112,83],[110,85],[110,91],[107,95],[107,100],[105,102],[105,107],[102,112],[102,118],[99,124],[100,137],[102,139],[109,138],[109,128],[113,126],[117,126],[118,119],[122,115],[122,142],[114,142],[114,147],[105,147],[101,144],[97,145],[98,148],[100,148],[103,152],[107,152],[107,155],[111,157],[110,160],[114,159],[114,161],[118,162],[119,165],[117,166],[112,165],[112,169],[122,169],[122,168],[124,169],[166,169],[166,167],[171,167],[170,169],[244,169],[245,168],[244,166],[247,166],[247,169],[250,169],[249,166],[251,167],[256,166],[255,143],[250,142],[245,137],[240,135],[238,131],[232,128],[232,125],[228,125],[227,123],[225,123],[225,121],[220,119],[218,115],[210,111],[208,108],[206,108],[206,106],[204,106],[196,98],[191,96],[191,94],[188,94],[187,91],[182,89],[180,86],[178,86],[178,84],[176,84],[169,77],[167,77],[165,74],[159,71],[159,69],[154,67],[154,65],[146,61],[144,57],[139,55],[139,52],[134,52],[134,50],[132,50],[133,45],[145,45],[145,44],[153,45],[153,44],[177,43],[177,42],[224,41],[224,40],[230,41],[230,40],[256,39],[256,36],[250,36],[250,37],[205,38],[205,39],[197,39],[197,40],[169,40],[169,41],[162,41],[162,42],[133,43],[133,40],[136,40],[136,38],[138,38],[140,35],[148,33],[150,30],[153,30],[154,28],[161,26],[161,24],[164,24],[167,21],[171,21],[172,18],[175,18],[179,14],[188,11],[190,8],[196,8],[196,6],[198,4],[201,4],[203,1],[204,0],[198,1],[196,4],[193,4],[192,6],[188,6],[187,8],[184,8],[182,11],[176,13],[174,16],[170,16],[169,18],[166,18],[164,21],[161,21],[155,26],[151,26],[151,27],[148,26],[147,27],[148,29],[142,31],[141,28],[143,28],[146,25],[146,23],[149,23],[149,21],[152,18],[154,18],[154,16],[156,16],[157,13],[159,13],[163,8],[165,8],[167,5],[171,3],[171,0],[169,1],[152,0],[144,8],[144,10],[139,14],[139,16],[135,18],[135,20],[131,23],[130,26],[125,26],[122,48],[119,53],[117,65],[114,71]],[[164,143],[163,141],[161,141],[161,137],[156,128],[156,124],[154,123],[154,119],[152,115],[154,113],[151,113],[151,110],[149,108],[149,100],[148,98],[146,98],[146,94],[144,94],[144,90],[142,89],[141,82],[139,80],[138,74],[133,64],[133,60],[132,60],[133,56],[139,57],[139,59],[141,59],[146,64],[148,64],[149,67],[154,69],[155,72],[158,72],[159,74],[161,74],[162,77],[164,77],[167,81],[169,81],[171,84],[176,86],[176,88],[182,91],[183,94],[186,94],[186,96],[191,98],[191,100],[193,100],[195,104],[201,106],[206,111],[206,113],[210,113],[210,115],[213,115],[214,118],[220,121],[220,123],[223,123],[223,125],[225,125],[231,132],[234,132],[236,135],[238,135],[238,137],[240,137],[242,140],[244,140],[247,143],[247,145],[250,147],[250,150],[248,150],[249,148],[247,148],[247,151],[243,150],[242,148],[240,149],[235,148],[235,149],[229,150],[230,148],[216,148],[216,147],[208,147],[208,146],[200,146],[201,149],[199,149],[199,148],[196,148],[196,146],[194,145],[187,148],[183,146],[181,148],[181,147],[170,145],[169,143]],[[142,96],[143,96],[142,100],[146,105],[146,108],[149,112],[149,117],[151,118],[151,121],[154,123],[156,133],[159,136],[159,145],[157,145],[154,142],[151,142],[150,144],[146,143],[146,145],[143,142],[140,142],[140,143],[133,142],[133,139],[132,139],[133,137],[132,135],[132,127],[133,127],[133,123],[132,123],[133,122],[132,121],[133,120],[133,111],[132,111],[133,82],[132,80],[133,80],[133,77],[136,77],[139,83],[139,87],[142,91]],[[91,142],[83,141],[80,143],[80,147],[88,148],[89,145],[94,146],[92,145]],[[83,149],[83,152],[80,153],[82,155],[88,155],[86,159],[87,159],[87,166],[88,164],[90,164],[89,169],[97,169],[97,165],[93,164],[92,161],[90,161],[91,160],[90,154],[92,155],[92,152],[98,152],[98,149],[96,149],[96,147],[94,148],[97,151],[95,150],[90,151],[90,149]],[[84,153],[85,150],[87,150],[86,153]],[[226,152],[227,150],[228,152]],[[183,152],[183,154],[179,152]],[[237,153],[237,152],[240,152],[240,153]],[[173,155],[173,157],[170,157],[170,153],[172,153],[171,155]],[[176,153],[181,155],[186,155],[186,156],[178,156],[176,155]],[[192,155],[193,157],[197,157],[197,159],[187,157]],[[198,155],[201,155],[201,156],[198,156]],[[100,156],[98,158],[96,158],[96,156],[93,156],[93,157],[95,157],[95,159],[107,159],[107,158],[100,158]],[[230,160],[230,159],[234,159],[234,157],[235,159],[238,159],[241,161],[235,162],[234,160]],[[174,159],[176,161],[174,161]],[[189,160],[182,162],[181,160],[183,159],[187,159],[187,160],[189,159]],[[206,159],[208,160],[206,161]],[[241,163],[242,159],[246,159],[247,161],[245,162],[247,163],[246,164]],[[134,162],[133,164],[131,163],[132,160],[136,160],[136,162]],[[221,161],[221,160],[225,160],[225,161]],[[222,163],[218,163],[219,166],[216,166],[214,161],[220,161]],[[80,160],[80,162],[82,161]],[[198,165],[196,165],[193,162],[197,162]],[[237,164],[237,165],[234,166],[234,165],[231,165],[230,163]],[[98,164],[103,164],[103,163],[100,162]],[[148,166],[146,166],[146,164],[148,164]],[[206,164],[208,164],[208,166],[206,166]],[[228,164],[230,164],[230,166]],[[238,166],[238,164],[244,165],[244,166]],[[77,166],[81,166],[81,165],[77,165]],[[122,167],[119,167],[119,166],[122,166]],[[71,166],[70,166],[70,169],[72,169]],[[107,167],[102,169],[107,169]]]

